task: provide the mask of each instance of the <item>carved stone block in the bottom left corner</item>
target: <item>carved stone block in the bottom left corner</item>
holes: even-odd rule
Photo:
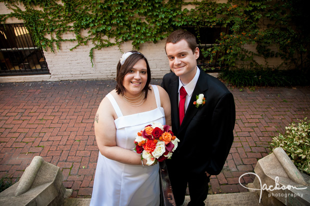
[[[0,206],[61,206],[65,188],[59,167],[36,156],[20,180],[0,193]]]

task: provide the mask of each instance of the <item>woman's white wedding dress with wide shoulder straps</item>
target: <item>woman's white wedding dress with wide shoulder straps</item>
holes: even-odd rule
[[[110,100],[116,112],[116,144],[128,150],[135,148],[137,132],[152,122],[165,124],[164,111],[160,107],[158,88],[151,85],[157,108],[147,112],[123,116],[111,94]],[[158,206],[159,164],[154,166],[127,165],[105,158],[99,152],[90,206]]]

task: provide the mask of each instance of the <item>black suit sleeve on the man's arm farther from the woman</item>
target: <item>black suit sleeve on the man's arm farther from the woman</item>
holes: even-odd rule
[[[233,142],[234,123],[234,100],[227,92],[219,99],[212,114],[209,163],[205,169],[210,175],[218,175],[225,164]]]

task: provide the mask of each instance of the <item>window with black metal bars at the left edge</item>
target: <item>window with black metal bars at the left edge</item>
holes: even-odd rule
[[[0,24],[0,76],[49,74],[42,49],[23,23]]]

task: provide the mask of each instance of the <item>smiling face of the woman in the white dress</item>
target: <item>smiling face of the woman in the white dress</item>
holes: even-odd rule
[[[125,74],[123,86],[126,89],[125,95],[135,97],[143,90],[147,81],[147,67],[144,59],[138,60]]]

